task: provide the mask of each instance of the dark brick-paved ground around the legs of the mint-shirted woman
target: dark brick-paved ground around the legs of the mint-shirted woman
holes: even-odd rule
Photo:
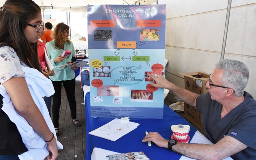
[[[58,141],[63,145],[63,149],[59,150],[58,160],[85,159],[85,107],[81,81],[76,81],[75,97],[77,119],[80,121],[82,127],[75,127],[72,122],[66,92],[62,86]]]

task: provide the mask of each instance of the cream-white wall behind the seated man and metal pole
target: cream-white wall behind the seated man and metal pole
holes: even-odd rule
[[[177,72],[211,73],[221,59],[228,0],[159,0],[166,4],[165,74],[184,87]],[[224,59],[244,62],[250,70],[245,91],[256,98],[256,0],[232,0]]]

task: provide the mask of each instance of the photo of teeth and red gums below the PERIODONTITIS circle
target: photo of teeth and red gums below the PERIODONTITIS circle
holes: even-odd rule
[[[131,101],[151,101],[153,92],[147,90],[131,90]]]

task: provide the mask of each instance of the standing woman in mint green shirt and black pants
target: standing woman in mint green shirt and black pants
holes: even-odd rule
[[[72,57],[75,58],[75,49],[73,43],[69,39],[69,26],[64,23],[58,23],[53,32],[53,40],[46,43],[49,58],[54,65],[54,76],[49,76],[53,82],[55,93],[53,95],[53,125],[56,134],[59,134],[59,109],[61,105],[61,87],[62,84],[66,90],[67,99],[69,102],[72,122],[76,127],[81,127],[76,119],[76,101],[75,101],[75,72],[76,66],[63,69],[58,68],[68,62],[71,62]],[[71,51],[69,58],[61,56],[64,50]]]

